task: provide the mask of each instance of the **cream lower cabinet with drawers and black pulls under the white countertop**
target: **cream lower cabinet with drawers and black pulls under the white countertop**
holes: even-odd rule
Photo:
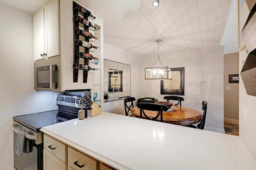
[[[44,134],[44,170],[115,170]]]

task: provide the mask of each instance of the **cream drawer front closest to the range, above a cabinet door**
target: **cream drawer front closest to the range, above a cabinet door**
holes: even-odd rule
[[[53,154],[54,156],[62,160],[63,162],[68,161],[68,158],[67,158],[68,146],[48,136],[47,134],[44,134],[44,148],[48,152],[50,152],[51,154]]]

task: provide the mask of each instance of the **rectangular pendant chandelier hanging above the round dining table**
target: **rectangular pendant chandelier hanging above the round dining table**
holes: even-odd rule
[[[145,80],[171,80],[171,69],[168,66],[162,65],[159,57],[159,42],[156,63],[152,67],[145,68]]]

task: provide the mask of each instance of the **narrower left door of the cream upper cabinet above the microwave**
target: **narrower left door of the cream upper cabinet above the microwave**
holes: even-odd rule
[[[44,10],[33,17],[34,22],[34,60],[42,59],[44,53]]]

